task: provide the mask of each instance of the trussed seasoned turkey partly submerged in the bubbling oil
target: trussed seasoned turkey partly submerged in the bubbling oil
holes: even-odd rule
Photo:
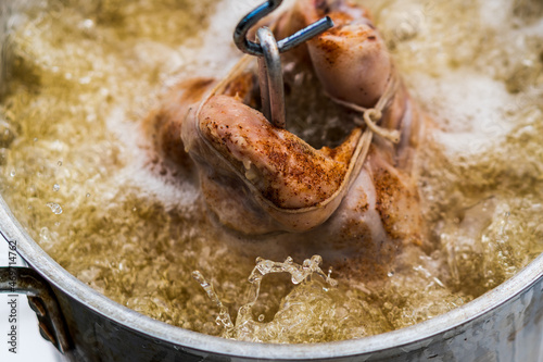
[[[424,239],[413,172],[425,120],[366,10],[343,0],[301,0],[276,21],[277,38],[324,15],[334,27],[290,59],[308,64],[340,104],[358,111],[380,104],[377,123],[400,132],[399,142],[356,123],[340,146],[315,149],[275,127],[255,109],[248,58],[222,82],[181,83],[148,117],[146,132],[164,164],[198,173],[209,209],[237,232],[242,252],[321,253],[371,278],[389,270],[402,245]]]

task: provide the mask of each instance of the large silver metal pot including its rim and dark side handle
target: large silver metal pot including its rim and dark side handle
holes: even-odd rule
[[[0,1],[2,42],[8,7],[16,3]],[[75,361],[543,361],[543,255],[475,301],[412,327],[330,344],[266,345],[174,327],[108,299],[54,262],[1,198],[0,230],[30,266],[0,269],[0,291],[29,295],[42,336]]]

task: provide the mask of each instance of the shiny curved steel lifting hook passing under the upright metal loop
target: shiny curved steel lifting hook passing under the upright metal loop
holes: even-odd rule
[[[258,23],[263,17],[270,14],[274,10],[279,8],[282,3],[282,0],[268,0],[251,11],[247,14],[236,27],[233,32],[233,42],[236,46],[244,53],[255,55],[255,57],[264,57],[264,51],[262,46],[257,42],[251,41],[247,39],[247,33]],[[310,26],[296,32],[295,34],[279,40],[277,46],[279,48],[279,52],[282,53],[287,50],[290,50],[304,41],[310,40],[314,36],[326,32],[330,27],[333,26],[333,22],[330,17],[326,16],[321,20],[311,24]]]

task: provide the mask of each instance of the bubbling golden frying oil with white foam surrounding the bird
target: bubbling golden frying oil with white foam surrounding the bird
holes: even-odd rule
[[[409,91],[433,118],[417,167],[432,248],[406,248],[378,284],[332,275],[331,288],[266,275],[245,308],[254,260],[222,242],[193,179],[150,171],[140,123],[176,79],[224,76],[239,57],[231,30],[256,3],[13,4],[21,14],[2,43],[0,187],[63,267],[176,326],[319,342],[447,312],[543,251],[540,1],[367,0]],[[243,327],[227,333],[216,323],[226,313]]]

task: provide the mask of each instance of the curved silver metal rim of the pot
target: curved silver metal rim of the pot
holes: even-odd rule
[[[454,330],[506,303],[543,278],[543,254],[515,276],[481,297],[431,320],[401,329],[334,342],[307,345],[258,344],[224,339],[184,329],[124,307],[70,274],[26,233],[0,196],[3,232],[17,241],[21,257],[49,283],[94,312],[130,329],[207,353],[260,360],[306,360],[370,354],[397,347],[407,352],[430,345],[432,337]]]

